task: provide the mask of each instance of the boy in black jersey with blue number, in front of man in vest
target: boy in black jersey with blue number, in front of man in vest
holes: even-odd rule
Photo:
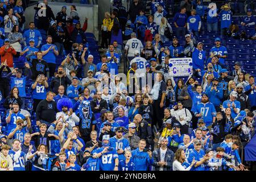
[[[153,107],[151,104],[148,104],[148,101],[148,96],[143,96],[143,104],[139,108],[139,114],[141,114],[142,118],[151,124],[153,117]]]

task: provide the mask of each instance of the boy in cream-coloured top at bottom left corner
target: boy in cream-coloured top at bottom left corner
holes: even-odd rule
[[[0,171],[13,171],[13,159],[9,155],[10,147],[5,144],[0,152]]]

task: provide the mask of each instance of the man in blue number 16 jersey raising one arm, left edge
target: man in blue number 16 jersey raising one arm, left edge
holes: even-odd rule
[[[24,142],[24,136],[26,133],[30,133],[31,122],[28,115],[26,115],[27,125],[24,126],[23,119],[16,120],[16,128],[11,130],[8,135],[9,139],[19,139],[21,143]]]

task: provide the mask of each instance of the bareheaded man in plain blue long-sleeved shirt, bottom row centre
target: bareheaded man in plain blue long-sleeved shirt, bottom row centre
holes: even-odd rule
[[[133,151],[133,162],[135,171],[148,171],[148,167],[153,163],[152,152],[146,147],[146,140],[139,140],[139,147]]]

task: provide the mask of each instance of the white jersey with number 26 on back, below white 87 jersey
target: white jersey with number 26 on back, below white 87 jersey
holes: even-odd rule
[[[130,62],[130,68],[131,68],[131,64],[133,63],[137,63],[137,69],[136,69],[135,75],[137,77],[145,76],[146,66],[150,67],[150,64],[148,63],[148,61],[143,57],[134,57],[134,59],[132,59]]]

